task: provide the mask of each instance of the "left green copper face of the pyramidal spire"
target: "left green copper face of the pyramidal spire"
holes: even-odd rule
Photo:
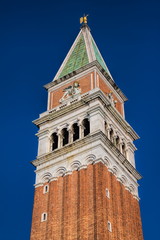
[[[68,73],[71,73],[78,68],[81,68],[89,63],[88,55],[86,51],[85,41],[84,37],[81,34],[75,48],[73,49],[68,61],[66,62],[65,66],[62,69],[62,72],[58,76],[58,78],[61,78]]]

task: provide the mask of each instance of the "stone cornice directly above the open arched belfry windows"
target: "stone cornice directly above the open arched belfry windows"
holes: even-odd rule
[[[99,99],[101,101],[104,108],[111,113],[111,115],[114,117],[114,119],[119,124],[121,124],[124,131],[127,132],[127,134],[130,135],[130,137],[133,140],[139,139],[139,136],[137,135],[137,133],[127,123],[127,121],[125,119],[123,119],[123,117],[120,115],[120,113],[110,104],[109,100],[106,98],[105,94],[100,89],[98,89],[98,90],[96,89],[94,91],[88,92],[87,94],[84,94],[84,96],[81,95],[80,100],[73,101],[73,103],[71,103],[69,105],[66,105],[66,106],[62,105],[56,109],[49,111],[48,114],[34,120],[33,123],[39,127],[43,123],[46,123],[48,121],[54,120],[58,117],[61,117],[69,112],[72,112],[80,107],[85,106],[89,102],[94,101],[96,99]],[[91,111],[91,110],[88,110],[88,111]]]

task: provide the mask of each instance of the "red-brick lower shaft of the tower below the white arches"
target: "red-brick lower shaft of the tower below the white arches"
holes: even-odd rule
[[[50,182],[48,193],[35,189],[31,240],[78,239],[143,240],[138,201],[102,163]]]

